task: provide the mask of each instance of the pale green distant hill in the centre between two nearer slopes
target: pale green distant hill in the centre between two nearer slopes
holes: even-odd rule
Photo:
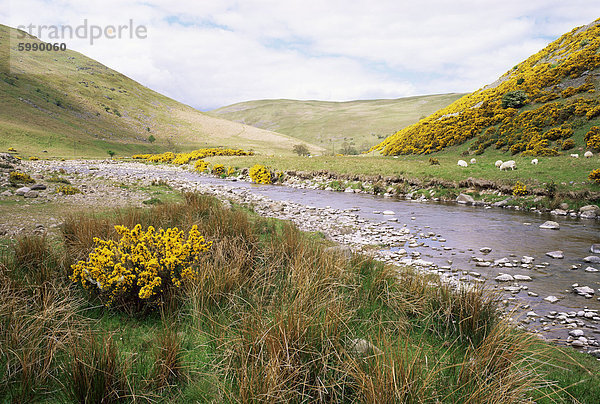
[[[329,151],[346,141],[368,149],[462,94],[349,102],[259,100],[210,111],[212,116],[293,136]],[[344,140],[345,139],[345,140]]]

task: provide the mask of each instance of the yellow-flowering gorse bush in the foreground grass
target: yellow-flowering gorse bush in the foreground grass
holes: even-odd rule
[[[187,238],[174,228],[167,230],[141,225],[133,229],[115,226],[120,240],[94,239],[95,248],[87,261],[72,266],[71,280],[97,294],[110,306],[115,302],[153,307],[163,294],[182,283],[196,279],[202,254],[212,242],[206,242],[198,226]]]

